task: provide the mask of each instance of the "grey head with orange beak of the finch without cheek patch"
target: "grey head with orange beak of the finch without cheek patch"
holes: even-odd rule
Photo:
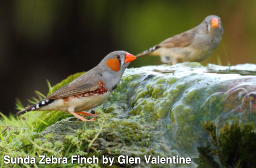
[[[216,15],[207,16],[200,24],[200,28],[212,36],[221,37],[223,34],[221,18]]]

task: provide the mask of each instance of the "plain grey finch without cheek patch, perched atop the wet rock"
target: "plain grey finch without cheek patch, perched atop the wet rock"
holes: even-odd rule
[[[219,45],[223,34],[220,17],[207,16],[203,22],[186,32],[170,37],[136,57],[160,56],[164,63],[201,62]]]

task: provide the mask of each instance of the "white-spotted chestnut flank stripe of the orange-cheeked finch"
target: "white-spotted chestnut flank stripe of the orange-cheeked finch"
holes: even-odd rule
[[[104,94],[104,93],[106,93],[108,91],[108,89],[105,87],[105,83],[104,82],[100,81],[100,82],[98,82],[97,85],[99,87],[96,90],[94,90],[94,91],[89,91],[89,92],[81,93],[81,94],[78,94],[78,95],[73,95],[73,96],[70,96],[70,97],[63,98],[64,102],[67,102],[70,98],[92,97],[92,96]]]

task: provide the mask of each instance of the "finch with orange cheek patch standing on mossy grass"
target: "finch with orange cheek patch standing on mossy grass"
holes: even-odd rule
[[[134,59],[136,59],[135,56],[125,51],[114,51],[105,56],[92,70],[59,88],[44,100],[17,112],[17,114],[29,111],[54,110],[69,112],[84,122],[94,121],[94,118],[87,120],[79,114],[96,115],[82,111],[102,104],[120,83],[129,62]]]

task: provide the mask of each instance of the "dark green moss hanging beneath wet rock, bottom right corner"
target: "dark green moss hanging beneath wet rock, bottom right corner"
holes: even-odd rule
[[[226,123],[219,135],[216,125],[209,121],[204,124],[210,139],[206,146],[198,147],[199,158],[195,159],[200,168],[205,165],[217,166],[214,157],[220,158],[225,168],[252,168],[256,165],[256,133],[254,124]],[[217,143],[218,140],[218,143]]]

